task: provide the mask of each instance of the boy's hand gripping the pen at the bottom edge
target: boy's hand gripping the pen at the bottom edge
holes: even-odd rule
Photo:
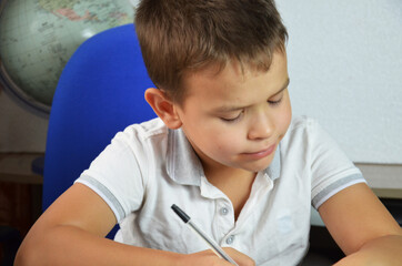
[[[255,263],[249,256],[231,247],[223,247],[224,252],[239,264],[239,266],[254,266]],[[179,266],[230,266],[231,263],[218,257],[212,250],[204,250],[180,256]]]

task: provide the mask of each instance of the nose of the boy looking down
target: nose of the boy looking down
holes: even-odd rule
[[[251,122],[248,133],[249,140],[265,140],[274,132],[274,124],[267,114],[255,114],[255,119]]]

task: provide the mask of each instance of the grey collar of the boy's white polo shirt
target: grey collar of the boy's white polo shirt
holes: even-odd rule
[[[201,162],[181,129],[169,130],[167,152],[168,175],[181,185],[201,185],[204,176]],[[281,174],[280,145],[273,156],[272,163],[264,173],[274,181]]]

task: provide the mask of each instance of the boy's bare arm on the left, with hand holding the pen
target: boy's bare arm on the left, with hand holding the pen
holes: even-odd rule
[[[181,255],[124,245],[104,236],[115,225],[113,212],[92,190],[72,185],[32,226],[14,265],[230,265],[212,252]],[[251,259],[228,250],[240,265]],[[193,262],[195,259],[195,262]],[[200,264],[198,264],[200,263]]]

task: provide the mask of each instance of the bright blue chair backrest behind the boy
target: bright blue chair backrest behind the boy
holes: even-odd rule
[[[73,184],[118,131],[155,117],[134,25],[103,31],[67,63],[52,102],[43,168],[43,211]],[[110,234],[109,237],[112,235]]]

